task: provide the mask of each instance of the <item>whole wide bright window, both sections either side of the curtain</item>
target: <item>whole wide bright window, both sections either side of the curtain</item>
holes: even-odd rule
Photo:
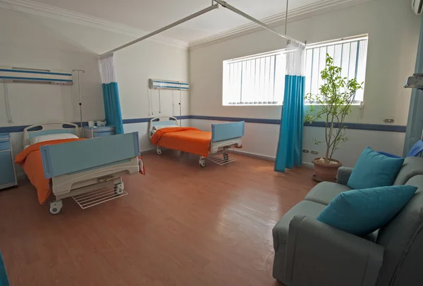
[[[364,82],[367,37],[313,44],[306,48],[305,93],[319,94],[320,72],[326,53],[343,77]],[[285,89],[285,50],[223,61],[223,105],[281,105]],[[353,104],[363,101],[364,89],[357,91]]]

